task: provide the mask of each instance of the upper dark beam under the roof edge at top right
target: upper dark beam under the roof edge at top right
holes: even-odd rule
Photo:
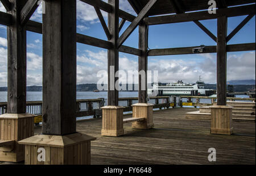
[[[248,14],[255,14],[255,5],[246,5],[238,7],[230,7],[226,9],[217,9],[216,14],[209,14],[208,11],[189,12],[185,14],[164,15],[144,18],[147,25],[168,24],[192,22],[194,20],[216,19],[220,16],[242,16]]]

